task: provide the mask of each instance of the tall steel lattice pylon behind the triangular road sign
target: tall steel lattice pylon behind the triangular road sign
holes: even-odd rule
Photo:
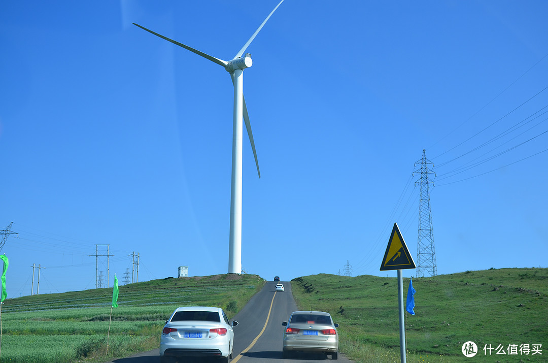
[[[415,167],[420,165],[419,169],[413,172],[413,177],[419,175],[415,181],[415,186],[420,185],[419,202],[419,237],[416,243],[416,277],[436,276],[436,250],[434,249],[434,234],[432,231],[432,210],[430,208],[430,184],[434,182],[429,174],[436,174],[429,168],[433,168],[433,163],[426,158],[426,152],[423,150],[423,158],[415,163]]]

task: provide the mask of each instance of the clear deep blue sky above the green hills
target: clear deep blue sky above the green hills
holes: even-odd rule
[[[96,244],[110,286],[133,252],[140,281],[227,272],[230,76],[132,22],[229,60],[276,4],[2,0],[8,297],[30,294],[33,263],[41,293],[94,288]],[[243,268],[395,276],[379,266],[394,222],[416,255],[423,149],[438,274],[546,267],[546,14],[286,0],[244,71],[261,179],[244,134]]]

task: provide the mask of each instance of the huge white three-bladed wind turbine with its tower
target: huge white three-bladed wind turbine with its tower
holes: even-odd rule
[[[232,84],[234,85],[234,121],[232,128],[232,186],[230,192],[230,242],[229,242],[229,274],[239,274],[242,272],[242,118],[246,122],[247,134],[253,150],[253,156],[255,157],[255,165],[257,166],[257,173],[259,178],[261,172],[259,171],[259,161],[257,160],[257,153],[255,152],[255,143],[253,142],[253,133],[251,132],[251,124],[249,123],[249,116],[247,113],[246,100],[243,98],[243,70],[252,66],[251,54],[246,53],[247,47],[266,24],[266,21],[270,19],[270,16],[276,11],[276,9],[283,3],[283,0],[276,5],[274,10],[270,12],[269,16],[262,22],[259,28],[253,33],[249,40],[244,44],[242,49],[232,58],[230,61],[215,58],[209,54],[200,52],[197,49],[185,46],[185,44],[179,43],[164,37],[150,29],[146,29],[139,24],[134,25],[152,33],[160,38],[172,42],[182,48],[190,50],[193,53],[203,56],[203,58],[209,59],[213,63],[225,67],[226,71],[230,73],[232,78]]]

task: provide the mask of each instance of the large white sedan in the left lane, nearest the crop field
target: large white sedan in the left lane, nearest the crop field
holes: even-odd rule
[[[234,346],[232,327],[237,325],[237,321],[229,321],[221,308],[178,308],[162,330],[160,361],[192,356],[218,357],[228,362]]]

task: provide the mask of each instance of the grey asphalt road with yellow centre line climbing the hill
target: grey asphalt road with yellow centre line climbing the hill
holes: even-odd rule
[[[277,282],[276,282],[277,283]],[[282,321],[287,321],[292,311],[298,310],[291,284],[281,282],[286,291],[275,292],[276,283],[267,282],[233,318],[239,322],[234,328],[234,350],[232,363],[290,363],[328,361],[324,354],[302,354],[292,359],[282,358]],[[336,322],[336,317],[334,317]],[[159,348],[116,359],[107,363],[159,363]],[[182,360],[181,360],[182,361]],[[185,362],[187,362],[185,360]],[[351,362],[339,354],[338,362]]]

